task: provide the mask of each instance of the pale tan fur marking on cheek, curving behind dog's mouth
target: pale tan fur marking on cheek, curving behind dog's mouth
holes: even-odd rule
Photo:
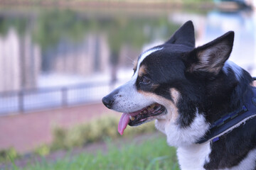
[[[153,99],[156,103],[159,103],[166,108],[167,114],[156,116],[156,119],[164,120],[164,121],[168,121],[168,122],[176,122],[176,120],[178,118],[178,108],[176,107],[176,103],[169,101],[168,99],[158,96],[156,94],[152,94],[152,93],[145,92],[145,91],[138,91],[138,92],[140,94],[146,96],[147,98]]]

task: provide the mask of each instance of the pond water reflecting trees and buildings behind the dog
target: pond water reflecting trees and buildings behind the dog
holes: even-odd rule
[[[256,76],[255,11],[1,9],[0,91],[59,88],[59,92],[33,92],[30,104],[26,104],[26,98],[19,101],[18,95],[6,99],[2,94],[0,112],[18,111],[18,101],[25,103],[25,110],[35,108],[34,101],[46,103],[49,98],[53,100],[50,104],[60,105],[63,87],[95,82],[121,84],[132,76],[132,63],[143,50],[168,40],[188,20],[195,25],[196,45],[235,30],[230,60]],[[85,99],[80,102],[99,101],[114,87],[108,86],[68,91],[68,98],[82,93],[79,98]],[[6,107],[10,102],[15,104]]]

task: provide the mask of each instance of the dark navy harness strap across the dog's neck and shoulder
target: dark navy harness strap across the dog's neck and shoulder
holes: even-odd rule
[[[256,77],[253,79],[256,80]],[[237,128],[245,121],[256,116],[256,87],[251,86],[245,92],[244,102],[241,108],[237,111],[223,115],[222,118],[216,120],[210,125],[210,130],[206,133],[204,137],[201,137],[197,144],[207,142],[212,140],[213,142],[218,141],[221,135],[224,135],[234,128]]]

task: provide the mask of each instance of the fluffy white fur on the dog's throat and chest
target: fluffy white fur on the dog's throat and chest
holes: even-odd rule
[[[209,130],[209,123],[203,114],[198,113],[191,125],[180,128],[178,123],[169,119],[157,119],[156,129],[164,132],[169,145],[178,147],[177,156],[181,169],[203,169],[203,165],[210,162],[210,142],[195,144],[200,137]]]

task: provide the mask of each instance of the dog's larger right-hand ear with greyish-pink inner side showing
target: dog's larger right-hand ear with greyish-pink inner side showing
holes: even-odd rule
[[[187,72],[218,74],[230,56],[233,42],[234,32],[229,31],[206,45],[196,47],[184,56]]]

